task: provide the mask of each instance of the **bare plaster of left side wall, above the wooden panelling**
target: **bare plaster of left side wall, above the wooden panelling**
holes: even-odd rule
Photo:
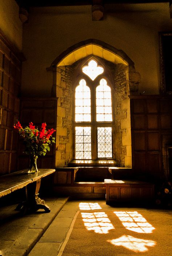
[[[0,0],[0,29],[19,51],[22,50],[22,23],[15,0]]]

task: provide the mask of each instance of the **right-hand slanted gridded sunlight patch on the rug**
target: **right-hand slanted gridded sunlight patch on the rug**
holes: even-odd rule
[[[123,226],[137,233],[152,233],[155,229],[150,223],[137,211],[121,211],[114,212],[120,219]]]

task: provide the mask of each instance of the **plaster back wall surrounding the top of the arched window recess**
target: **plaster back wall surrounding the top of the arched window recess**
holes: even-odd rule
[[[91,5],[32,8],[23,26],[22,94],[50,96],[53,77],[46,68],[67,48],[92,38],[134,61],[139,93],[159,94],[158,32],[171,30],[169,3],[105,5],[102,21],[92,21]]]

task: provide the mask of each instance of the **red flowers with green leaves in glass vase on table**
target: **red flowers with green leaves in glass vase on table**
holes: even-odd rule
[[[36,160],[38,156],[45,156],[47,150],[50,151],[50,145],[55,143],[55,138],[52,134],[56,131],[53,128],[46,130],[46,123],[42,123],[40,131],[33,125],[22,128],[19,121],[13,126],[19,135],[24,140],[26,155],[30,156],[30,167],[28,173],[35,173],[38,171]]]

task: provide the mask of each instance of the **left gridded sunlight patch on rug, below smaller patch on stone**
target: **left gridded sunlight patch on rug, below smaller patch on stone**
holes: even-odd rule
[[[110,219],[105,212],[81,212],[83,222],[87,230],[94,230],[95,233],[107,234],[114,229]]]

